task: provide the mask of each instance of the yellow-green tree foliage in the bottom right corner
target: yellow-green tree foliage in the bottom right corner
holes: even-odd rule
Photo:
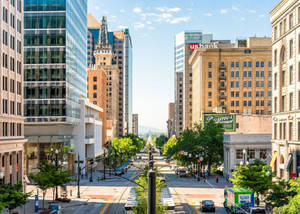
[[[300,210],[300,178],[290,180],[289,192],[294,192],[294,196],[289,196],[288,204],[278,209],[275,209],[275,213],[280,214],[298,214]]]

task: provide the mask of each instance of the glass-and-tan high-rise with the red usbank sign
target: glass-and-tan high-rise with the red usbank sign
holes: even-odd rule
[[[183,31],[175,36],[174,71],[183,73],[182,94],[176,94],[179,90],[175,89],[176,136],[181,135],[185,128],[192,127],[192,67],[189,58],[194,49],[200,44],[209,43],[212,37],[212,34],[202,34],[201,31]],[[175,74],[175,85],[178,85],[176,77]]]

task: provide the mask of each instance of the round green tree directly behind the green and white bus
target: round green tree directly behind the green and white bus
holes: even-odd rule
[[[233,177],[230,180],[235,186],[252,190],[257,198],[259,195],[265,195],[272,187],[273,174],[270,172],[270,167],[261,160],[254,160],[249,165],[236,167]],[[259,200],[257,200],[257,205],[259,206]]]

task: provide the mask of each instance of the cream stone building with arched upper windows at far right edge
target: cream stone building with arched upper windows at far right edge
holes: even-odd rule
[[[273,133],[271,163],[278,177],[300,177],[300,2],[282,0],[273,28]]]

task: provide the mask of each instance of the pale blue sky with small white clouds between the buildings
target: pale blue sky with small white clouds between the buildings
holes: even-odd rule
[[[88,0],[108,29],[129,28],[133,44],[133,113],[139,125],[167,129],[174,102],[174,36],[201,30],[213,39],[271,37],[269,12],[280,0]]]

